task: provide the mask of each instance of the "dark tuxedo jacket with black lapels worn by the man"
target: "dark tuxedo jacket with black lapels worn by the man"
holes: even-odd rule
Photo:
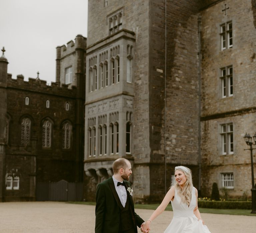
[[[126,182],[127,187],[131,185],[125,180],[124,182]],[[140,227],[144,220],[134,212],[132,196],[127,194],[127,198],[130,198],[136,225]],[[96,189],[95,233],[118,233],[120,224],[119,205],[122,204],[116,192],[113,178],[110,177],[99,183]],[[137,229],[135,232],[137,232]]]

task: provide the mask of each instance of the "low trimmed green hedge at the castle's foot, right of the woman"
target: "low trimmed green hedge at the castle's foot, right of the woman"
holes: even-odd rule
[[[251,209],[251,201],[204,201],[198,200],[198,208],[209,209]]]

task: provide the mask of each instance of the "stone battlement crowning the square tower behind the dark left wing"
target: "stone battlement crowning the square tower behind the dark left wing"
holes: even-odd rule
[[[71,40],[67,43],[67,45],[56,47],[57,59],[61,59],[71,53],[74,53],[77,49],[86,50],[86,37],[83,37],[82,35],[77,35],[75,38],[75,42]]]

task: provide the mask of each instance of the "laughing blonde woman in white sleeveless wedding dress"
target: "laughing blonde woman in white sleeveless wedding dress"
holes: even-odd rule
[[[142,231],[150,231],[150,223],[160,215],[171,201],[173,219],[164,233],[211,233],[201,218],[197,207],[197,189],[193,187],[191,170],[175,167],[176,183],[165,195],[162,203],[143,225]]]

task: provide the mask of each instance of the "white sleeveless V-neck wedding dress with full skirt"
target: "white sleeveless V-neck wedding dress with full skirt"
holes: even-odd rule
[[[192,189],[192,199],[190,205],[183,203],[181,197],[175,189],[175,196],[171,201],[173,209],[173,219],[164,233],[211,233],[202,220],[194,215],[193,210],[196,207],[196,189]]]

